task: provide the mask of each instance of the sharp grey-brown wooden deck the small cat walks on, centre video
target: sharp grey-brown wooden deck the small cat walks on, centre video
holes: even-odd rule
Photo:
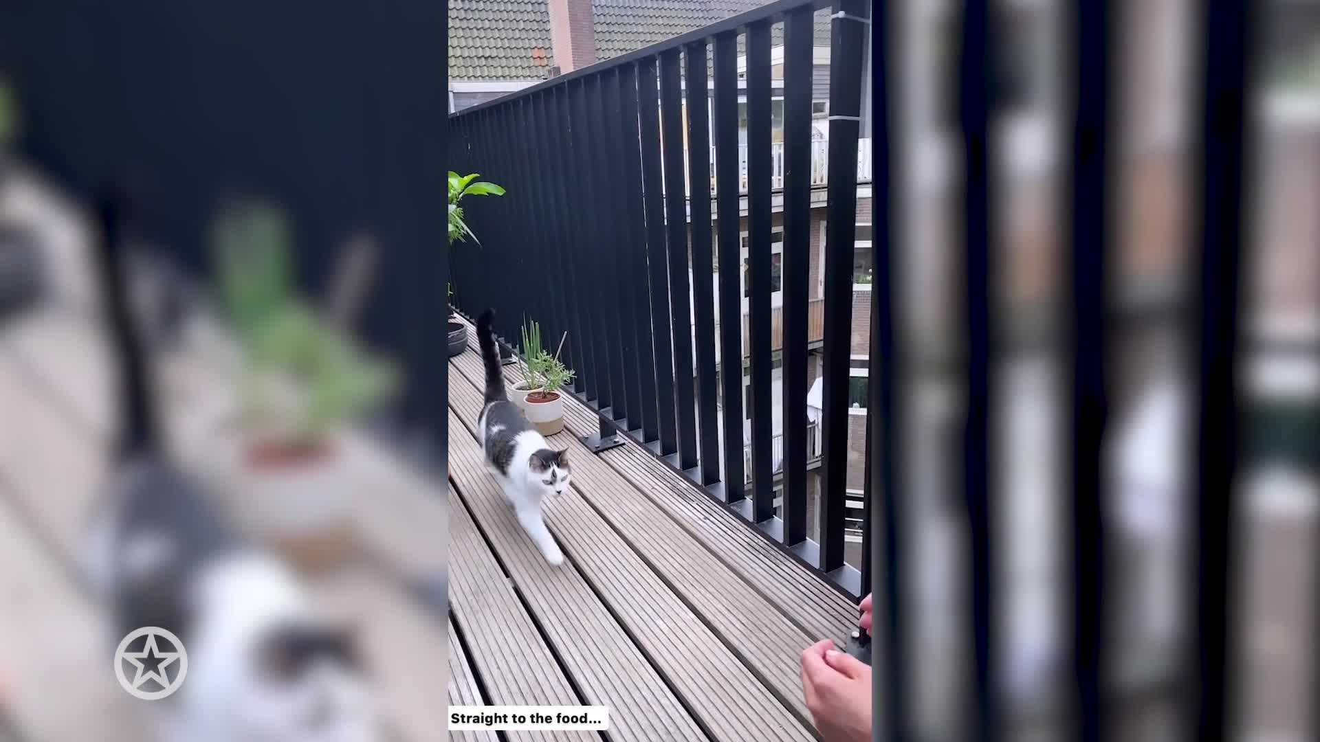
[[[578,438],[597,417],[576,400],[550,440],[573,487],[546,508],[566,557],[548,566],[482,465],[475,350],[450,371],[451,618],[487,702],[561,702],[566,688],[565,702],[610,706],[610,738],[810,739],[797,660],[846,635],[851,603],[640,446],[593,454]],[[492,610],[524,659],[487,654]]]

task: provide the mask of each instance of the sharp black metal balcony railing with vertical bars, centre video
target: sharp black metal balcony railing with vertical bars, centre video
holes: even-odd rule
[[[814,13],[826,7],[820,0],[771,3],[453,115],[450,168],[480,173],[506,186],[508,195],[465,205],[482,244],[458,246],[451,263],[455,306],[469,316],[494,306],[503,338],[517,338],[524,317],[539,320],[556,342],[568,333],[564,354],[578,374],[573,391],[601,415],[593,445],[607,446],[616,434],[644,444],[766,537],[859,598],[869,591],[865,569],[843,560],[851,224],[866,58],[865,26],[851,17],[833,21],[824,172],[830,220],[847,227],[832,231],[825,256],[825,408],[818,446],[808,438],[807,421],[809,210],[812,173],[821,172],[818,162],[812,164],[813,147],[821,145],[810,132],[812,44]],[[865,18],[869,5],[857,7],[853,15]],[[775,24],[783,24],[787,45],[779,152],[771,144]],[[738,79],[741,38],[744,91]],[[744,145],[738,132],[739,95],[747,102]],[[746,187],[739,189],[742,161]],[[711,170],[714,182],[685,177]],[[772,399],[771,190],[780,185],[779,290],[783,347],[789,351],[783,354],[783,399]],[[725,374],[721,389],[715,354],[718,342],[721,358],[744,356],[742,323],[717,326],[713,302],[701,300],[718,290],[721,316],[744,314],[741,272],[718,272],[717,287],[717,273],[709,269],[717,250],[719,264],[743,263],[739,219],[711,215],[713,199],[718,214],[738,215],[739,190],[748,201],[750,244],[746,458],[742,376]],[[783,432],[776,436],[772,409],[779,405]],[[807,477],[816,450],[824,478],[821,527],[818,537],[809,537]],[[774,504],[777,477],[785,494],[781,516]]]

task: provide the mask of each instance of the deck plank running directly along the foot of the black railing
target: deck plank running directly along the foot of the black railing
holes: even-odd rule
[[[469,342],[477,347],[471,326]],[[480,358],[475,353],[454,356],[451,364],[470,384],[484,384]],[[508,380],[516,382],[515,376],[515,367],[506,368]],[[454,383],[450,379],[450,388],[454,388]],[[572,397],[564,403],[564,417],[568,429],[577,436],[591,434],[598,428],[597,415]],[[857,606],[851,601],[754,533],[738,516],[642,446],[628,441],[597,458],[614,467],[672,523],[731,568],[789,622],[813,636],[813,642],[824,638],[842,639],[857,627]]]

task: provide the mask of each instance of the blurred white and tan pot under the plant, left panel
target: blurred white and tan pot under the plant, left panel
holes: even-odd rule
[[[231,499],[244,531],[306,570],[342,564],[355,552],[352,477],[334,442],[244,441],[238,452]]]

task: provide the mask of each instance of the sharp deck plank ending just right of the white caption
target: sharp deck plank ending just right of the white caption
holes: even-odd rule
[[[449,429],[449,477],[469,515],[495,547],[510,578],[582,691],[589,705],[610,706],[611,739],[700,739],[701,727],[643,652],[570,566],[552,568],[523,532],[462,425]],[[565,494],[564,496],[573,496]],[[605,529],[599,518],[573,523]]]

